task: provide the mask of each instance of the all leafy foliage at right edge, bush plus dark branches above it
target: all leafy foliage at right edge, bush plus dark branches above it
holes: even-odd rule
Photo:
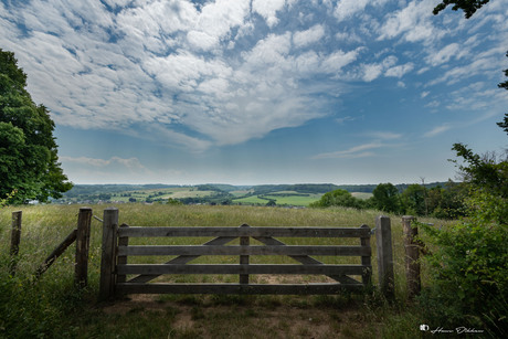
[[[508,336],[508,159],[479,156],[463,144],[453,149],[468,187],[466,216],[452,227],[422,224],[435,246],[427,257],[431,287],[421,303],[427,317],[457,326],[481,326]],[[456,161],[455,161],[456,162]]]

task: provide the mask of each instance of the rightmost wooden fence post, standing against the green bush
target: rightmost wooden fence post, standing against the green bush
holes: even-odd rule
[[[420,244],[415,241],[419,234],[419,229],[412,226],[414,216],[402,216],[402,226],[404,231],[404,248],[405,248],[405,277],[408,280],[408,298],[411,300],[422,288],[420,279]]]

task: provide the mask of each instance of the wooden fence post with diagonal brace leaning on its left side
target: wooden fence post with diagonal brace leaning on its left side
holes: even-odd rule
[[[92,209],[81,208],[77,215],[76,232],[76,266],[74,271],[74,283],[78,287],[88,284],[88,252],[89,233],[92,224]]]

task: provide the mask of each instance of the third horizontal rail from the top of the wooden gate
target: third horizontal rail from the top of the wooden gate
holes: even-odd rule
[[[117,265],[118,274],[316,274],[361,275],[363,265],[271,265],[271,264],[207,264],[166,265],[133,264]]]

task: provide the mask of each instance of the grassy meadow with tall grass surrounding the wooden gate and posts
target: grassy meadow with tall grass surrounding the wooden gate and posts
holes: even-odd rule
[[[380,212],[351,209],[283,209],[119,204],[119,223],[130,226],[374,226]],[[392,216],[395,301],[378,292],[337,296],[135,295],[97,303],[102,223],[92,220],[88,287],[73,286],[72,245],[40,278],[33,273],[75,227],[80,205],[0,210],[0,338],[414,338],[422,324],[405,299],[400,216]],[[92,205],[103,218],[105,205]],[[17,274],[9,276],[11,213],[23,211]],[[422,220],[421,220],[422,221]],[[425,221],[425,220],[423,220]],[[426,220],[436,224],[436,220]],[[202,243],[208,239],[193,239]],[[371,239],[375,253],[375,239]],[[373,280],[377,263],[373,255]],[[167,258],[166,258],[167,259]],[[226,258],[225,258],[226,259]],[[237,258],[234,258],[237,261]],[[162,261],[162,258],[154,258]],[[146,262],[146,261],[145,261]],[[253,262],[255,262],[253,259]],[[209,262],[205,262],[209,263]],[[179,277],[174,278],[176,280]],[[207,277],[235,282],[237,277]],[[258,283],[272,277],[257,277]],[[199,278],[198,278],[199,280]],[[194,280],[192,280],[194,282]],[[256,282],[256,280],[254,280]],[[284,283],[285,280],[279,280]],[[301,282],[306,282],[305,277]],[[425,284],[425,269],[423,283]]]

